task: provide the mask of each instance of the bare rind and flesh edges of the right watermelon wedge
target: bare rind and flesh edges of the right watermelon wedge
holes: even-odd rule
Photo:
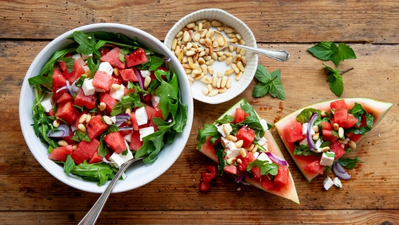
[[[348,108],[353,108],[353,105],[355,103],[360,103],[362,105],[362,107],[365,110],[367,110],[368,113],[372,113],[375,117],[372,130],[379,123],[379,121],[381,121],[381,119],[384,117],[384,115],[386,115],[386,113],[388,113],[388,110],[393,105],[392,103],[377,101],[377,100],[370,99],[370,98],[340,98],[340,99],[345,100],[346,105],[348,105]],[[318,176],[319,174],[310,173],[304,169],[304,167],[306,167],[306,165],[308,165],[308,163],[310,163],[310,161],[312,161],[312,160],[306,160],[306,157],[303,157],[303,156],[301,157],[301,155],[294,155],[294,144],[286,141],[286,139],[284,138],[284,129],[289,127],[289,124],[296,121],[296,115],[299,115],[299,113],[301,113],[301,111],[303,109],[315,108],[318,110],[329,110],[330,109],[329,104],[332,103],[333,101],[337,101],[337,100],[339,100],[339,99],[334,99],[334,100],[330,100],[330,101],[315,103],[313,105],[308,105],[304,108],[296,110],[294,113],[287,115],[286,117],[282,118],[281,120],[279,120],[278,122],[275,123],[275,128],[277,129],[277,133],[279,134],[280,139],[282,139],[284,146],[287,148],[289,155],[291,155],[292,159],[294,160],[296,165],[301,170],[303,176],[305,176],[309,182],[312,181],[313,179],[315,179],[315,177]],[[356,140],[355,142],[358,143],[358,141],[360,141],[360,139]]]

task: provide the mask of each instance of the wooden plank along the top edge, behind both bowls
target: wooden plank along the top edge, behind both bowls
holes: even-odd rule
[[[163,40],[184,15],[221,8],[259,42],[351,41],[398,44],[399,3],[388,1],[2,1],[0,38],[53,39],[91,23],[124,23]],[[15,10],[18,8],[18,10]],[[178,10],[176,10],[178,9]],[[57,15],[57,16],[54,16]]]

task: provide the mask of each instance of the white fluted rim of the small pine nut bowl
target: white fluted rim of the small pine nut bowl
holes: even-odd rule
[[[195,20],[189,20],[189,19],[192,17],[195,17],[195,15],[201,14],[201,13],[220,13],[221,15],[225,15],[226,17],[230,18],[231,20],[234,20],[234,22],[237,23],[237,25],[235,25],[235,26],[241,26],[241,27],[243,27],[244,30],[247,30],[247,32],[249,32],[249,39],[246,39],[247,45],[252,46],[252,47],[257,47],[256,39],[254,37],[253,32],[251,32],[251,30],[249,29],[249,27],[244,22],[242,22],[242,20],[240,20],[239,18],[235,17],[234,15],[232,15],[232,14],[228,13],[227,11],[224,11],[223,9],[220,9],[220,8],[203,8],[198,11],[193,11],[192,13],[189,13],[188,15],[185,15],[183,18],[178,20],[174,24],[174,26],[171,27],[169,32],[167,32],[164,44],[166,46],[168,46],[168,48],[170,49],[171,42],[173,41],[174,37],[176,37],[177,32],[180,31],[185,26],[185,24],[183,24],[183,21],[186,21],[187,23],[195,22]],[[226,23],[226,22],[224,22],[224,23]],[[235,27],[235,26],[232,26],[232,27]],[[247,53],[250,53],[250,52],[247,52]],[[252,54],[252,56],[253,56],[251,63],[253,65],[257,65],[258,61],[259,61],[258,55],[256,53],[250,53],[250,54]],[[233,93],[233,91],[230,90],[229,95],[223,95],[223,97],[221,97],[221,94],[219,94],[214,97],[209,97],[209,96],[205,96],[203,94],[195,94],[193,91],[192,97],[194,99],[196,99],[197,101],[202,101],[204,103],[209,103],[209,104],[219,104],[219,103],[224,103],[226,101],[230,101],[231,99],[237,97],[238,95],[240,95],[243,91],[245,91],[247,89],[247,86],[249,86],[252,79],[254,78],[255,72],[256,72],[256,68],[254,68],[254,72],[251,75],[248,75],[247,72],[244,72],[243,76],[248,76],[248,77],[247,77],[247,79],[240,80],[242,86],[240,86],[240,89],[238,91],[236,91],[235,93]]]

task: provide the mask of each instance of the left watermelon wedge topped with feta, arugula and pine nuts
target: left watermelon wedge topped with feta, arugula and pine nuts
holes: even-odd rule
[[[244,112],[242,112],[244,110]],[[218,162],[219,173],[234,174],[263,191],[299,204],[288,164],[266,120],[242,99],[214,124],[204,124],[197,135],[197,149]]]

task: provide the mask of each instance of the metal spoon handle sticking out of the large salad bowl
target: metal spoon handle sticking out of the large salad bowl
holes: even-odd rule
[[[93,207],[91,207],[91,210],[87,212],[86,216],[81,219],[79,222],[79,225],[89,225],[89,224],[94,224],[97,221],[98,216],[100,215],[101,210],[103,210],[103,207],[105,205],[105,202],[107,202],[108,197],[110,196],[110,193],[112,189],[115,187],[115,184],[117,184],[117,181],[119,180],[119,177],[122,176],[122,173],[133,163],[138,160],[142,160],[143,158],[134,158],[131,159],[127,162],[125,162],[118,170],[117,174],[115,174],[114,178],[110,181],[110,184],[108,184],[107,188],[105,188],[105,191],[100,195],[100,198],[98,198],[97,202],[94,203]]]

